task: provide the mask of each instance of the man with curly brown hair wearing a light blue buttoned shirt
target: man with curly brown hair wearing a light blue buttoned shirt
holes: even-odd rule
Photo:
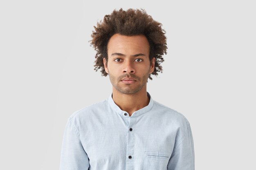
[[[60,170],[194,170],[189,121],[146,91],[166,54],[161,26],[138,9],[114,10],[94,26],[94,70],[109,75],[112,93],[68,118]]]

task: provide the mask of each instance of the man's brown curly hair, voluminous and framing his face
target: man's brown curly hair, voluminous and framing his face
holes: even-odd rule
[[[97,26],[94,26],[95,31],[92,31],[92,40],[90,40],[90,46],[93,46],[97,51],[94,61],[94,70],[98,71],[101,68],[101,75],[107,76],[103,58],[108,62],[108,49],[107,45],[115,33],[121,35],[145,35],[149,44],[149,59],[152,62],[155,57],[155,69],[153,75],[157,76],[158,73],[162,73],[162,66],[160,64],[164,62],[162,55],[167,54],[166,49],[166,31],[162,29],[162,24],[153,20],[153,18],[146,13],[144,9],[128,9],[124,11],[122,8],[119,11],[114,10],[110,15],[105,15],[100,22],[97,22]],[[152,80],[152,77],[148,76]]]

